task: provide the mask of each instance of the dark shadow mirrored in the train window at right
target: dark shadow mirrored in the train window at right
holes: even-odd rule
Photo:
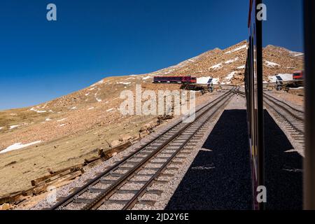
[[[302,209],[302,156],[265,111],[266,208]]]

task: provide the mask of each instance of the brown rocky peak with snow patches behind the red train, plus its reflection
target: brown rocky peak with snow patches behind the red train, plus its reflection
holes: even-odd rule
[[[175,66],[161,69],[152,75],[176,75],[217,78],[218,84],[243,85],[246,64],[247,42],[220,50],[218,48],[204,52],[202,55],[188,59]],[[263,49],[264,80],[279,73],[293,73],[303,68],[303,54],[286,48],[267,45]]]

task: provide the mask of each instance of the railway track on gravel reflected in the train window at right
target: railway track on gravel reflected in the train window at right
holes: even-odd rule
[[[244,92],[237,92],[245,97]],[[304,145],[304,111],[296,109],[265,92],[264,102],[267,109],[273,112],[276,119],[286,126],[286,130],[290,132],[290,136],[298,143]]]

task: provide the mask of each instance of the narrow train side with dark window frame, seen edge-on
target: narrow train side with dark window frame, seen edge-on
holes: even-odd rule
[[[258,187],[264,184],[263,99],[262,99],[262,21],[257,6],[261,0],[251,0],[248,15],[248,53],[245,72],[249,151],[251,155],[253,209],[264,209],[256,200]]]

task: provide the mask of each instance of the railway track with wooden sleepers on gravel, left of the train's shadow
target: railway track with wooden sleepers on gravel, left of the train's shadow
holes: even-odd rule
[[[132,209],[137,204],[153,205],[144,195],[160,195],[153,184],[166,184],[186,155],[202,138],[209,123],[224,109],[235,88],[196,111],[193,123],[176,123],[159,137],[137,149],[106,172],[88,181],[50,209]],[[171,173],[169,173],[171,172]]]

